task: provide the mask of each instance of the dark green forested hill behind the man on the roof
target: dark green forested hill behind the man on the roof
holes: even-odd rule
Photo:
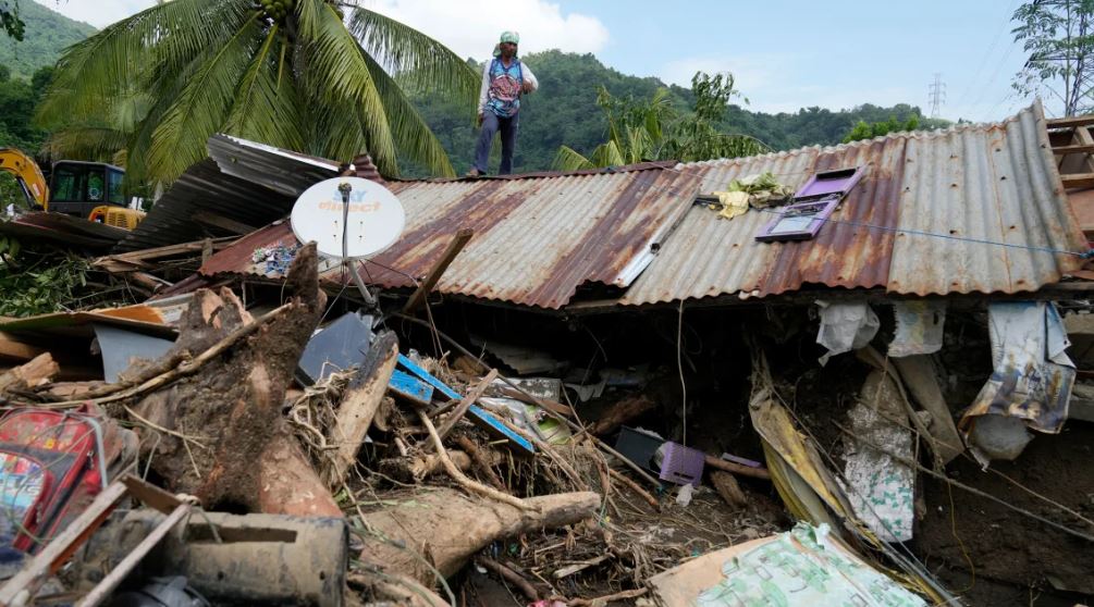
[[[607,68],[593,55],[548,50],[524,56],[522,60],[535,72],[539,91],[521,101],[514,172],[550,168],[559,145],[587,153],[604,141],[606,122],[596,106],[600,85],[615,96],[636,98],[649,98],[659,87],[665,86],[656,78],[626,75]],[[478,70],[476,68],[476,72]],[[671,90],[674,105],[686,112],[691,106],[691,91],[679,86]],[[748,91],[742,94],[747,96]],[[475,108],[461,107],[451,100],[431,95],[414,94],[412,98],[449,152],[456,171],[467,171],[477,135]],[[836,112],[806,107],[795,114],[764,114],[734,106],[723,127],[730,132],[756,137],[776,150],[790,150],[839,143],[859,120],[880,122],[896,117],[904,121],[912,116],[919,117],[920,128],[945,124],[923,118],[918,107],[907,104],[893,107],[864,104]],[[407,167],[406,172],[415,173],[412,167]]]

